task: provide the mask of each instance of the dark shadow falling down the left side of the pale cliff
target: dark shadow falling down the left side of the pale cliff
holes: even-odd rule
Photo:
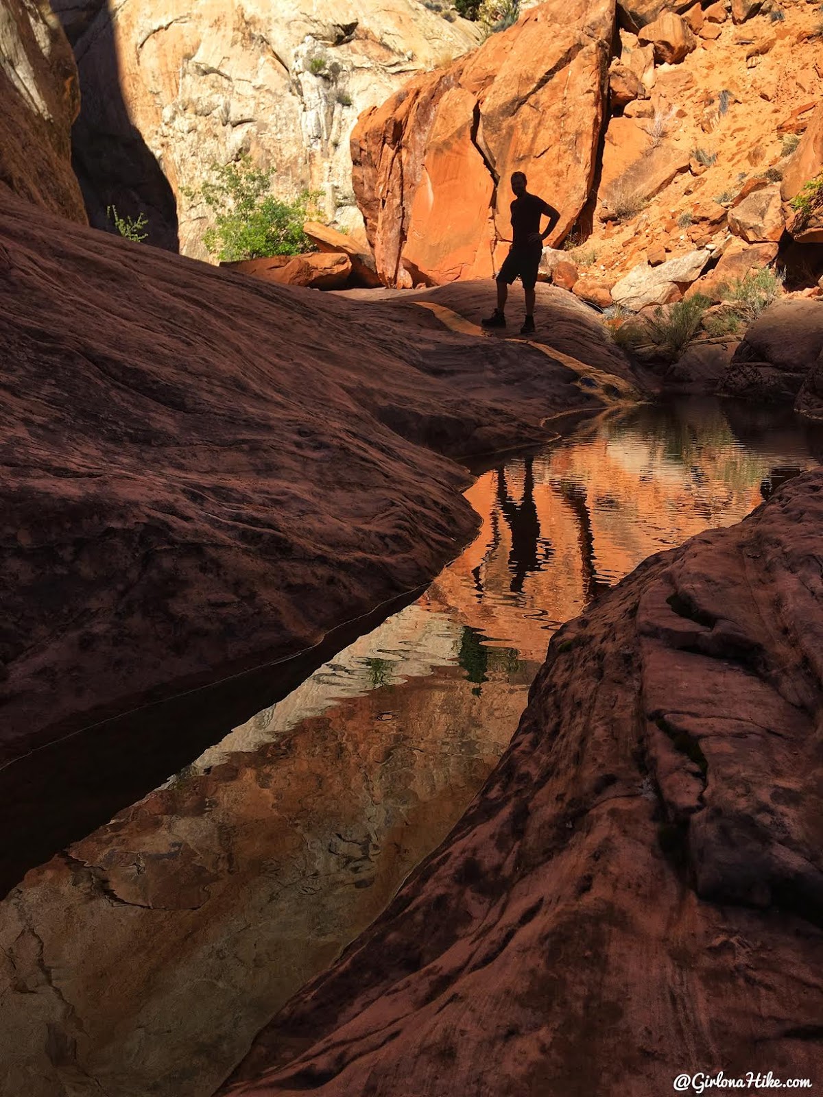
[[[112,0],[54,0],[80,75],[80,116],[71,160],[89,223],[114,231],[108,215],[148,219],[147,244],[179,251],[177,200],[156,157],[132,124],[123,100]]]

